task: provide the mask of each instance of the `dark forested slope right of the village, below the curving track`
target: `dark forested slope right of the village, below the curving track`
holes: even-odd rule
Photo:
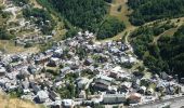
[[[184,77],[182,72],[184,71],[184,26],[172,37],[162,36],[157,43],[154,43],[154,39],[158,35],[173,27],[174,25],[169,23],[140,27],[131,35],[132,45],[135,54],[144,60],[150,71],[155,73],[166,71],[170,75],[178,73],[180,77]]]

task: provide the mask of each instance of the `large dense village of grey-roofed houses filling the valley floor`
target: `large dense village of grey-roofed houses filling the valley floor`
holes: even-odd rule
[[[51,108],[136,106],[182,96],[178,76],[132,69],[139,59],[130,44],[94,39],[84,31],[41,53],[1,53],[0,90]]]

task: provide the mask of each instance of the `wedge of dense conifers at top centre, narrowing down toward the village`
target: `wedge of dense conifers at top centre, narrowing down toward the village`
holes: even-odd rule
[[[49,0],[74,26],[95,31],[107,5],[103,0]]]

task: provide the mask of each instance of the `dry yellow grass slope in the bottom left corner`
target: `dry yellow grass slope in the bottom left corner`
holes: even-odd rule
[[[44,108],[28,100],[11,98],[0,94],[0,108]]]

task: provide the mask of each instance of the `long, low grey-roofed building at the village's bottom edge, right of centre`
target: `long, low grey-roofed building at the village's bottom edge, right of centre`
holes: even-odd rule
[[[126,102],[124,94],[105,94],[103,95],[103,104],[122,104]]]

